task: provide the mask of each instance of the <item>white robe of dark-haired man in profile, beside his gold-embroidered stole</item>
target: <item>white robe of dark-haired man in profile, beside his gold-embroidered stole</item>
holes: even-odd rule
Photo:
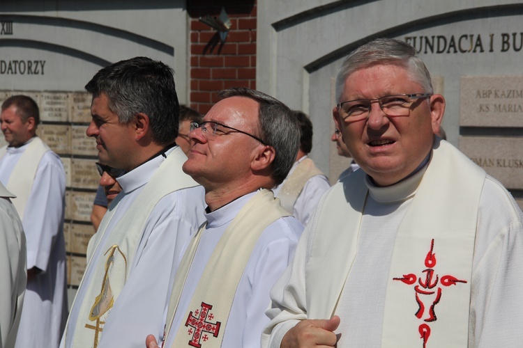
[[[186,159],[179,147],[167,150],[166,155],[168,158],[176,158],[176,168],[181,168]],[[93,260],[94,265],[96,260],[105,260],[105,242],[112,235],[112,231],[124,223],[121,219],[126,212],[136,207],[135,201],[139,204],[137,198],[146,184],[149,184],[149,187],[161,187],[163,180],[176,180],[176,177],[168,175],[153,177],[165,160],[166,157],[158,155],[118,178],[123,191],[109,207],[114,211],[112,217],[109,217],[110,220],[107,222],[104,217],[106,221],[100,223],[98,232],[105,230],[105,233],[102,237],[95,235],[99,247],[94,248],[96,245],[93,242],[89,244],[88,267],[71,308],[61,347],[93,347],[93,340],[75,340],[74,330],[79,320],[89,324],[88,318],[79,318],[88,288],[94,286],[92,278],[95,267],[89,267],[89,262]],[[132,262],[128,265],[125,285],[110,308],[107,322],[99,328],[101,338],[98,347],[142,348],[146,335],[158,331],[158,327],[163,325],[173,260],[180,257],[183,245],[204,221],[204,208],[204,190],[196,186],[168,193],[158,200],[149,216],[139,216],[145,219],[142,237],[132,256]],[[103,228],[104,224],[107,228]]]

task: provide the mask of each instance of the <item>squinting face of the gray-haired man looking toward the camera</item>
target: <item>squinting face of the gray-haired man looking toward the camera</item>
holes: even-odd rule
[[[347,77],[340,102],[423,92],[401,66],[372,65]],[[388,186],[412,173],[430,152],[444,109],[444,98],[432,95],[415,102],[409,116],[386,116],[377,102],[363,120],[344,120],[336,107],[333,116],[363,171],[379,186]]]

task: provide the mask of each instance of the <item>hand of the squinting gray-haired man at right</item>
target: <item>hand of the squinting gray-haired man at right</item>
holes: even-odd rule
[[[338,329],[338,325],[338,315],[328,320],[303,320],[285,334],[280,348],[334,347],[336,335],[333,331]]]

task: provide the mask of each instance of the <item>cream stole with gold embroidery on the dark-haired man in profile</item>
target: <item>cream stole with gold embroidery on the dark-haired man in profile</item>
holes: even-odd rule
[[[183,173],[181,166],[187,159],[180,148],[175,148],[145,185],[136,200],[130,205],[126,214],[110,231],[106,231],[109,221],[118,209],[119,197],[107,210],[98,232],[89,241],[87,258],[89,267],[96,267],[89,288],[79,310],[74,328],[73,347],[97,347],[103,332],[103,324],[109,315],[114,301],[126,283],[130,265],[137,251],[145,223],[156,204],[167,194],[180,189],[197,186],[197,182]],[[166,178],[175,178],[166,180]],[[102,246],[100,240],[105,232],[110,235]],[[176,231],[173,231],[176,233]],[[103,248],[103,258],[93,260],[96,248]],[[85,278],[85,277],[84,277]],[[82,287],[84,279],[82,278]],[[76,301],[76,299],[75,299]],[[74,303],[73,303],[74,306]],[[72,328],[66,328],[66,333]]]

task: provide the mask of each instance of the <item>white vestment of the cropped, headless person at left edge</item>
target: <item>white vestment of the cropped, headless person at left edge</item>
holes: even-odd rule
[[[0,348],[15,346],[26,287],[26,242],[22,221],[0,183]]]

